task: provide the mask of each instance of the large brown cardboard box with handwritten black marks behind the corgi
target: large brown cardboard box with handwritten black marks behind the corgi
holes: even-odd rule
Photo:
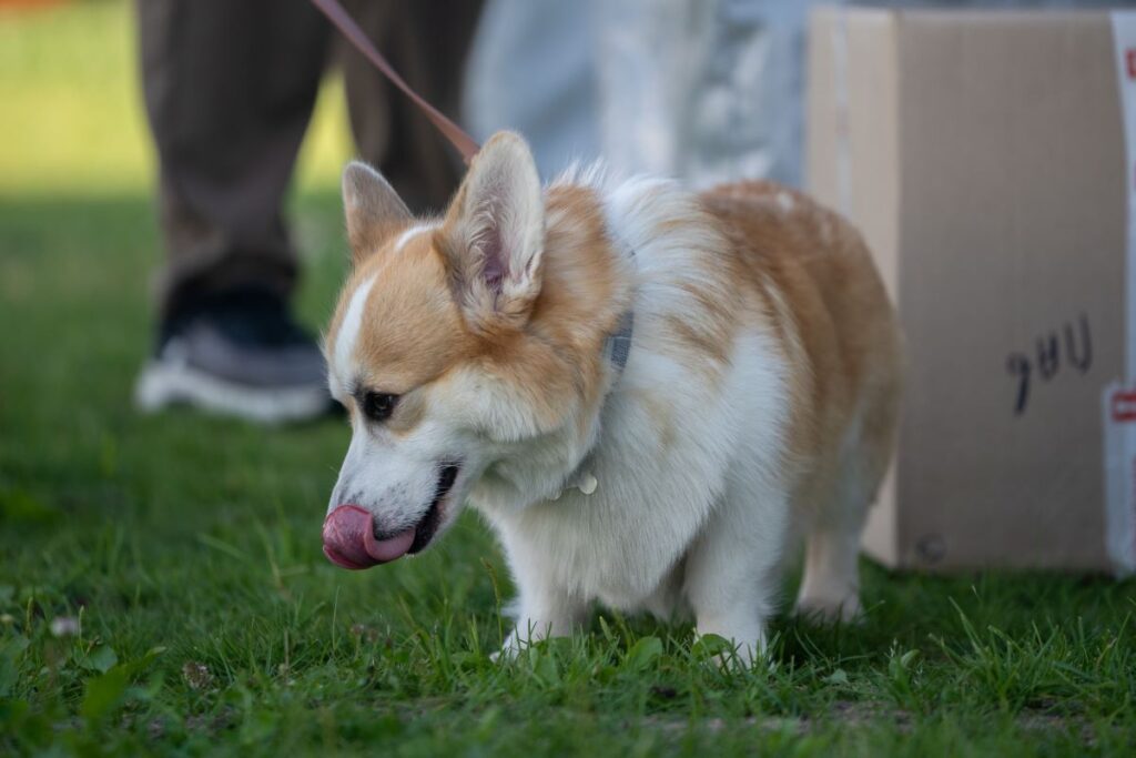
[[[864,533],[889,566],[1136,565],[1121,27],[1114,45],[1108,13],[811,19],[809,189],[863,231],[905,333]]]

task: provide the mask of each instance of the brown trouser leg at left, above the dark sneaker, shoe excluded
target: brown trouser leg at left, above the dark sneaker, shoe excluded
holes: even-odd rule
[[[287,295],[296,265],[281,201],[326,60],[307,0],[140,0],[142,83],[182,290],[254,283]]]

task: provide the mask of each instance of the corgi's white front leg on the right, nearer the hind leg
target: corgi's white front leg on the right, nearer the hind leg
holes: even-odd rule
[[[732,485],[687,556],[684,592],[698,633],[730,640],[745,665],[765,653],[788,528],[786,503],[779,486]]]

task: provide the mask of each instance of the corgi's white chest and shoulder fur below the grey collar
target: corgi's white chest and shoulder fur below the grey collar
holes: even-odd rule
[[[633,351],[602,415],[600,441],[585,466],[596,480],[584,494],[507,511],[474,503],[499,528],[518,574],[548,576],[585,601],[669,614],[682,593],[668,583],[727,490],[759,494],[760,472],[778,467],[784,391],[776,357],[760,335],[740,341],[725,391],[690,386],[684,372],[646,348]],[[743,419],[745,422],[743,423]],[[784,503],[750,516],[754,550],[778,552]]]

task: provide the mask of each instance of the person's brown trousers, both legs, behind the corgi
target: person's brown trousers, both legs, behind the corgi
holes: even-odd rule
[[[444,113],[481,2],[344,3],[407,82]],[[139,0],[142,83],[160,164],[164,313],[298,273],[281,205],[329,59],[343,67],[360,157],[414,210],[441,208],[460,160],[309,0]]]

